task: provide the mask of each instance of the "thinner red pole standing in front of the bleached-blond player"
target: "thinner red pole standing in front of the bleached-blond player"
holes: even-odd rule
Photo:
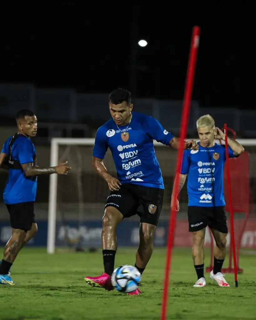
[[[230,210],[230,232],[231,232],[231,243],[232,243],[232,250],[233,250],[233,261],[234,261],[235,288],[237,288],[238,287],[238,282],[237,282],[237,266],[236,266],[235,233],[234,233],[234,212],[233,212],[232,197],[231,197],[231,182],[230,182],[229,157],[228,157],[228,128],[227,128],[227,124],[224,124],[224,134],[225,134],[225,149],[226,149],[226,163],[227,163],[227,179],[228,179],[228,200],[229,200],[229,208],[230,208],[229,209]],[[229,255],[230,255],[230,253],[229,253]]]

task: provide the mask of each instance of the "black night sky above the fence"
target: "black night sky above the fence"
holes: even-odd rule
[[[193,99],[202,107],[255,108],[254,11],[241,2],[225,12],[209,3],[196,15],[182,3],[179,8],[167,3],[4,3],[0,82],[73,87],[77,92],[124,87],[137,97],[182,99],[192,27],[199,25]],[[140,39],[148,46],[139,47]],[[137,50],[133,85],[132,43]]]

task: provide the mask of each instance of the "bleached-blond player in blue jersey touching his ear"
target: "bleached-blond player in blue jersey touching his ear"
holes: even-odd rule
[[[217,127],[210,115],[200,117],[197,122],[200,142],[198,150],[184,150],[179,176],[179,192],[188,176],[188,224],[193,233],[192,256],[197,274],[194,287],[204,287],[204,237],[209,226],[215,239],[214,266],[211,279],[221,287],[229,287],[221,273],[226,256],[227,218],[223,189],[223,169],[226,161],[225,146],[215,143],[214,139],[225,141],[224,133]],[[244,148],[235,140],[228,138],[228,155],[237,157]],[[179,211],[179,201],[172,196],[172,208]]]

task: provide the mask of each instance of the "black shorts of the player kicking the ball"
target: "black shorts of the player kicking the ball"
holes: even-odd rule
[[[138,214],[140,222],[157,225],[163,207],[164,189],[123,183],[118,191],[111,191],[106,207],[119,210],[124,218]]]

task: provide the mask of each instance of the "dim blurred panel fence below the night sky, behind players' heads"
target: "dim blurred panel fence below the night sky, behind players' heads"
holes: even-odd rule
[[[154,116],[166,130],[175,134],[179,132],[182,100],[135,99],[133,104],[135,111]],[[206,108],[192,101],[188,134],[195,132],[198,117],[209,113],[218,126],[228,123],[229,127],[244,137],[256,137],[256,111],[246,110],[246,105],[242,107],[242,110],[225,106]],[[60,124],[55,131],[51,126],[50,138],[50,134],[61,137],[61,132],[64,133],[61,131],[63,123],[84,123],[97,128],[109,118],[107,93],[81,94],[73,89],[37,89],[32,84],[0,84],[0,115],[13,119],[13,115],[21,108],[34,110],[39,122]],[[72,130],[65,134],[72,137]]]

